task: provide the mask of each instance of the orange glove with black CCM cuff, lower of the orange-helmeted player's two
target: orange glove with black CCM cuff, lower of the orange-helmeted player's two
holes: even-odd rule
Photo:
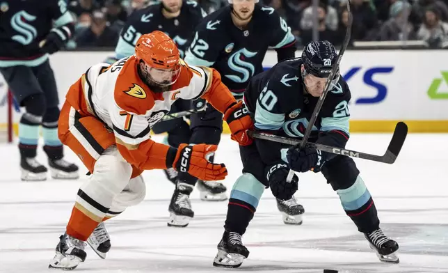
[[[214,164],[207,160],[218,146],[209,144],[180,144],[173,162],[173,168],[180,173],[189,173],[205,181],[223,180],[227,176],[224,164]]]

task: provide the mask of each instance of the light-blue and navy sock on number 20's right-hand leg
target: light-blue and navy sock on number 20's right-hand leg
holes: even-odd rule
[[[369,233],[380,226],[374,200],[362,178],[358,176],[347,189],[338,189],[337,194],[346,214],[358,227],[358,231]]]

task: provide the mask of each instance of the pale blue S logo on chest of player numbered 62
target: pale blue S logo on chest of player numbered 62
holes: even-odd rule
[[[257,55],[257,52],[250,52],[248,51],[248,49],[243,48],[239,49],[237,52],[234,52],[234,54],[230,55],[229,61],[227,61],[229,68],[234,70],[234,72],[241,73],[243,77],[237,75],[225,75],[225,77],[231,79],[234,82],[239,83],[248,81],[249,77],[252,77],[255,72],[253,64],[241,60],[241,55],[243,55],[246,58],[252,58],[253,56]]]

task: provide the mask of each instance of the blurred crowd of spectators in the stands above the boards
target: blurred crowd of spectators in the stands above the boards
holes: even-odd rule
[[[197,1],[206,13],[228,5],[227,0]],[[259,1],[275,8],[287,21],[299,49],[317,37],[335,45],[344,40],[348,22],[346,0]],[[154,3],[157,1],[67,0],[77,20],[68,47],[115,47],[127,17]],[[424,47],[448,48],[448,0],[351,0],[351,11],[351,46],[363,41],[415,41]]]

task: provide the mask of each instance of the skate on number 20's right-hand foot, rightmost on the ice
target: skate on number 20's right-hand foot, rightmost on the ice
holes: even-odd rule
[[[384,235],[381,228],[371,233],[364,233],[367,241],[369,241],[370,248],[376,252],[376,256],[385,263],[400,263],[396,255],[399,246],[397,242]]]

